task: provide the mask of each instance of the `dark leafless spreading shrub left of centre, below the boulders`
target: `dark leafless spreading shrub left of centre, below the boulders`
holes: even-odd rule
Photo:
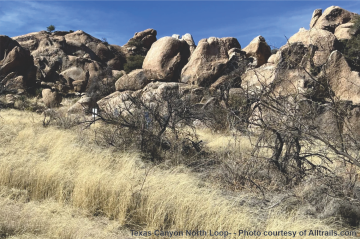
[[[139,150],[153,162],[166,159],[178,164],[186,158],[196,159],[202,145],[192,122],[203,120],[205,113],[196,109],[189,99],[174,92],[166,93],[162,99],[155,96],[157,99],[152,102],[131,95],[125,98],[116,108],[100,112],[98,120],[105,127],[97,134],[98,142],[118,149]]]

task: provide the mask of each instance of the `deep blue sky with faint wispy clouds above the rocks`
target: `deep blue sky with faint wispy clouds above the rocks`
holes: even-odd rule
[[[313,10],[340,6],[360,13],[359,0],[0,0],[0,35],[46,30],[83,30],[124,45],[135,32],[153,28],[158,39],[192,34],[236,37],[245,47],[258,35],[280,47],[299,28],[309,28]]]

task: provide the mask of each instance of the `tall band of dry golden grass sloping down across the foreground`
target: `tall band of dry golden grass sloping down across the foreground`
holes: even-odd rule
[[[38,201],[24,206],[19,217],[27,217],[26,208],[38,210],[33,215],[48,222],[41,229],[47,233],[58,230],[56,226],[52,229],[52,224],[64,223],[59,230],[65,230],[70,220],[66,214],[55,218],[57,222],[49,221],[47,209],[51,212],[54,208],[61,211],[68,207],[114,219],[121,227],[146,230],[263,231],[281,225],[282,230],[290,226],[294,230],[326,228],[319,221],[294,216],[290,216],[292,220],[277,214],[267,220],[257,218],[250,208],[238,206],[234,198],[201,186],[204,183],[186,168],[162,170],[145,165],[135,153],[100,148],[90,142],[94,137],[91,131],[43,128],[39,115],[15,110],[1,111],[0,116],[0,185],[25,190],[31,202]],[[6,200],[3,205],[11,206]],[[24,235],[34,233],[36,221],[29,222],[29,232]],[[18,222],[15,227],[28,227],[25,221]],[[9,227],[12,222],[5,216],[1,223]],[[82,227],[79,225],[82,223],[74,223],[78,225],[75,231],[76,228],[87,231],[92,225],[84,222]],[[59,234],[58,238],[87,238],[77,237],[69,228],[65,230],[68,234]]]

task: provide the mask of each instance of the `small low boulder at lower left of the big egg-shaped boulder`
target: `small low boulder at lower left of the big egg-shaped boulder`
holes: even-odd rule
[[[120,77],[115,83],[115,88],[117,91],[136,91],[144,88],[149,82],[150,81],[145,76],[144,70],[137,69]]]

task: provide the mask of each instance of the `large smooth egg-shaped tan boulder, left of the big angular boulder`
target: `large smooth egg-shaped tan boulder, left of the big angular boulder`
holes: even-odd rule
[[[185,41],[163,37],[146,54],[143,62],[145,76],[151,80],[177,82],[189,56],[189,46]]]

